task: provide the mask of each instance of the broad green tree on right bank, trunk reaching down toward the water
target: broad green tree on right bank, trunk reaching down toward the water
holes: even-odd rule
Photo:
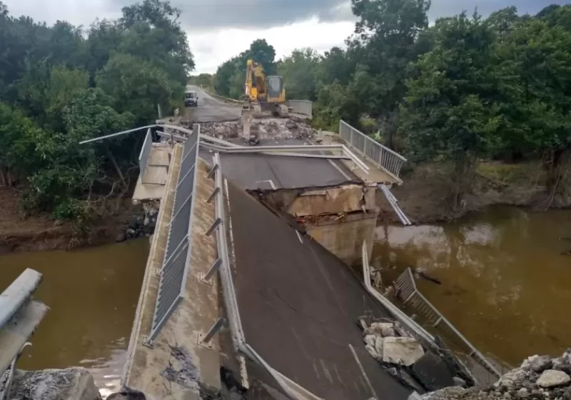
[[[400,129],[414,159],[452,162],[450,204],[458,210],[477,161],[500,146],[495,36],[477,15],[439,20],[434,29],[435,47],[420,57],[418,76],[407,83]]]

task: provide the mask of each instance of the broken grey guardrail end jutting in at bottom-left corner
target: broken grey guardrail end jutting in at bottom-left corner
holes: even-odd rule
[[[41,279],[38,271],[26,269],[0,294],[0,400],[9,399],[16,361],[48,311],[31,297]]]

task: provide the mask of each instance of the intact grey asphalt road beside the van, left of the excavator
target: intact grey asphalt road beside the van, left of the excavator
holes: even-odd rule
[[[185,108],[185,114],[189,120],[193,122],[221,122],[240,119],[240,107],[229,106],[214,99],[199,86],[187,85],[186,90],[193,90],[198,94],[198,106]]]

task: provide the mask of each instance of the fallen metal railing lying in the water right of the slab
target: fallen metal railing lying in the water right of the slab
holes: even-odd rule
[[[453,343],[458,346],[460,350],[455,351],[455,356],[463,361],[463,364],[472,371],[480,383],[492,384],[500,378],[502,374],[500,370],[497,369],[497,366],[492,364],[490,360],[480,353],[480,351],[418,291],[413,272],[410,268],[407,268],[403,274],[400,274],[394,284],[397,296],[406,306],[410,306],[423,317],[425,326],[430,326],[433,329],[438,328],[443,333],[443,336],[453,335]]]

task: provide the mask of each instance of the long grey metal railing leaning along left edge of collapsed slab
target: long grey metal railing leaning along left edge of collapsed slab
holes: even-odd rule
[[[198,143],[200,126],[196,125],[183,146],[181,169],[171,222],[168,224],[168,239],[165,257],[161,268],[161,279],[158,284],[158,295],[151,333],[146,343],[152,345],[168,317],[184,298],[186,276],[191,263],[192,214],[196,187],[196,164],[198,161]]]

